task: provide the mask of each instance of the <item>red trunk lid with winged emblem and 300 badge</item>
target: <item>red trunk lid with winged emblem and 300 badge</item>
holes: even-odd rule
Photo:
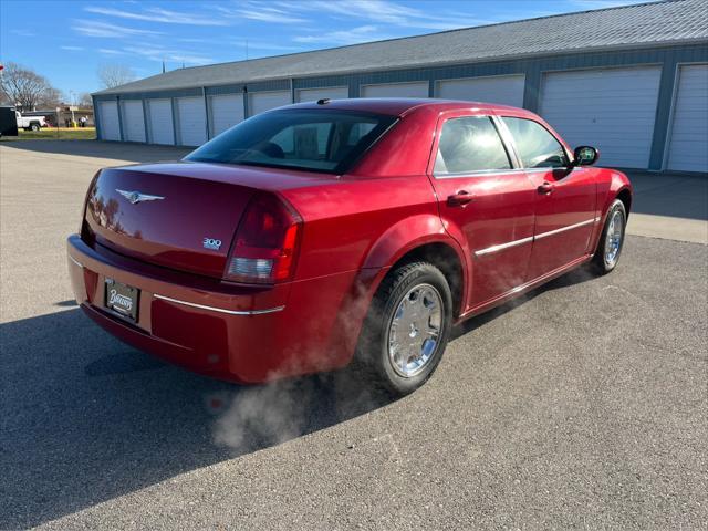
[[[185,167],[103,170],[88,191],[85,220],[97,243],[121,254],[221,278],[256,190],[225,175],[200,176]]]

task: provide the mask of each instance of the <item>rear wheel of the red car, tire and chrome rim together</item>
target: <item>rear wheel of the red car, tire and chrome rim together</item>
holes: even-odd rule
[[[452,295],[445,275],[428,262],[392,271],[374,296],[356,348],[369,382],[396,395],[420,387],[449,341]]]

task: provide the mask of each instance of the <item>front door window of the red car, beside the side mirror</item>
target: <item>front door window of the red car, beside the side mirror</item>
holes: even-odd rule
[[[524,168],[560,168],[568,166],[565,150],[560,142],[538,122],[524,118],[501,118],[517,147]]]

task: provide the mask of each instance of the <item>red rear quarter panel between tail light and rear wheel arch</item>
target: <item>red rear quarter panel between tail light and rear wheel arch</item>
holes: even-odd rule
[[[300,308],[299,330],[327,366],[347,363],[371,300],[389,267],[407,250],[449,239],[426,176],[343,177],[281,192],[304,220],[288,305]]]

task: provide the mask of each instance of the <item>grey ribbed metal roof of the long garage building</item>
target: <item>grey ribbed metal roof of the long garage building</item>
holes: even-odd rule
[[[665,0],[174,70],[119,94],[708,41],[706,0]]]

